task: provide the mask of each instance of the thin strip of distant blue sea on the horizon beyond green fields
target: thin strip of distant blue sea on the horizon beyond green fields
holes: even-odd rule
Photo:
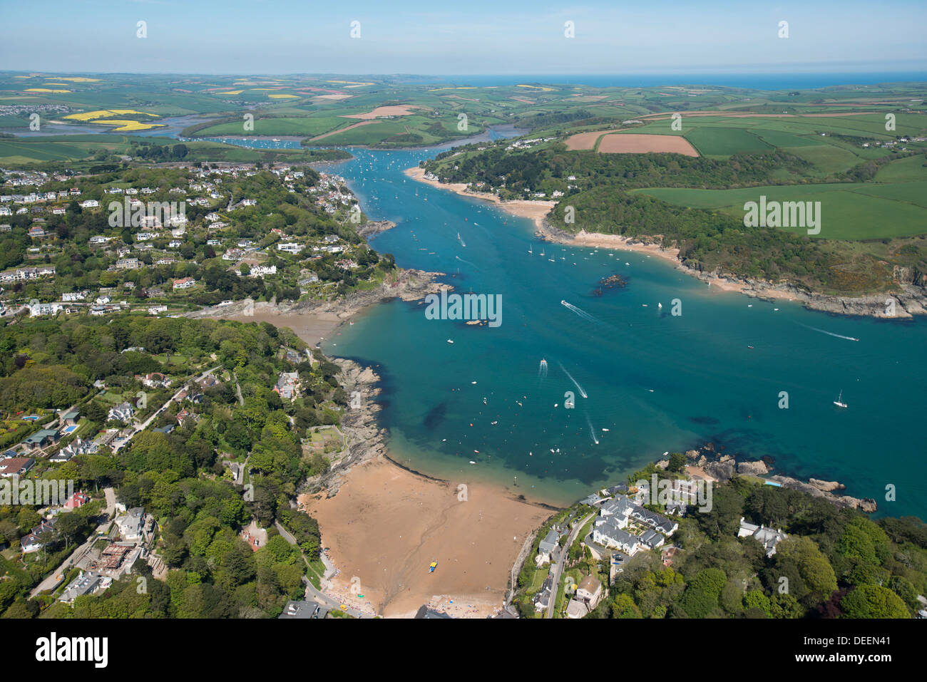
[[[874,85],[883,82],[927,82],[927,71],[871,71],[858,73],[618,73],[618,74],[514,74],[423,76],[409,83],[456,85],[516,85],[524,82],[589,85],[590,87],[659,87],[661,85],[716,85],[753,90],[816,90],[837,85]]]

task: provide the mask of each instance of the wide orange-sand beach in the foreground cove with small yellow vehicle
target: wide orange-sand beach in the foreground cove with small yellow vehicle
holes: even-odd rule
[[[299,505],[319,522],[339,570],[327,591],[396,618],[423,604],[454,617],[497,613],[519,550],[551,514],[492,486],[437,481],[383,457],[350,469],[336,496],[305,494]],[[431,562],[438,568],[429,574]]]

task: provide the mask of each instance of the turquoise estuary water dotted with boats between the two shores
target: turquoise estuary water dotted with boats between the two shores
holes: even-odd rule
[[[327,352],[377,365],[381,423],[403,463],[565,503],[667,450],[712,441],[772,456],[777,473],[839,480],[847,494],[875,498],[880,513],[927,517],[927,321],[770,304],[641,254],[543,245],[531,221],[402,174],[434,150],[351,152],[331,170],[369,216],[397,223],[375,239],[378,251],[402,267],[446,272],[458,291],[502,295],[497,328],[426,320],[424,305],[393,301],[326,340]],[[595,296],[616,273],[628,285]],[[669,314],[673,298],[680,316]],[[840,391],[846,410],[832,404]],[[889,484],[895,502],[884,501]]]

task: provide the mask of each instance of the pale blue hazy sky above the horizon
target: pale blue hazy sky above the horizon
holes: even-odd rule
[[[147,38],[136,22],[147,22]],[[349,37],[361,22],[361,38]],[[566,39],[565,21],[576,37]],[[777,37],[781,20],[788,39]],[[927,2],[5,0],[0,69],[616,74],[927,69]]]

